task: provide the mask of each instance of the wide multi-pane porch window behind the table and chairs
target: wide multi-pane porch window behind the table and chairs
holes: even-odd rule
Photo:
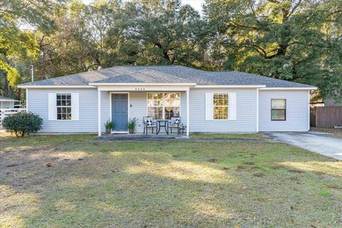
[[[180,116],[180,93],[147,93],[147,115],[156,120]]]

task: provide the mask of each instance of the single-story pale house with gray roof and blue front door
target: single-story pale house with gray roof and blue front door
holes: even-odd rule
[[[251,133],[309,130],[310,90],[300,83],[237,71],[184,66],[115,66],[33,83],[27,110],[43,118],[45,133],[126,132],[137,118],[179,115],[190,132]]]

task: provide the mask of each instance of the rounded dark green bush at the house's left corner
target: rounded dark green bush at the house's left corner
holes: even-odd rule
[[[39,115],[33,113],[15,113],[6,116],[2,121],[4,129],[16,135],[16,137],[23,137],[30,133],[36,133],[41,130],[43,119]]]

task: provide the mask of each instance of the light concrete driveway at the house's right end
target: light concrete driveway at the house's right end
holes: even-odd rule
[[[265,133],[279,142],[286,142],[297,147],[317,152],[321,155],[342,160],[342,139],[332,138],[326,133]]]

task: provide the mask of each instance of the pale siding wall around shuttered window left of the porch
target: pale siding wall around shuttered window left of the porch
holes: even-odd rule
[[[56,120],[55,111],[51,113],[49,120],[49,109],[56,107],[56,93],[78,94],[78,120],[77,114],[73,115],[76,120]],[[53,94],[49,95],[49,94]],[[43,118],[41,132],[46,133],[96,133],[98,131],[98,90],[96,89],[33,89],[28,90],[28,111],[36,113]],[[74,98],[77,95],[74,95]],[[51,104],[49,104],[49,98]],[[75,98],[77,99],[77,98]],[[73,102],[72,102],[73,103]],[[73,104],[72,104],[73,105]],[[76,102],[74,105],[77,110]],[[73,108],[73,106],[72,106]],[[53,110],[57,109],[54,108]],[[75,111],[75,110],[74,110]],[[73,112],[73,110],[72,110]]]

